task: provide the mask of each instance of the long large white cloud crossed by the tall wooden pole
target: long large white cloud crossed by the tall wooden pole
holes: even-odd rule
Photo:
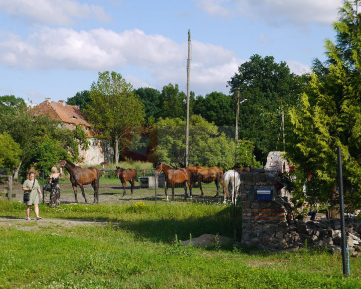
[[[73,29],[44,28],[23,40],[9,35],[0,42],[0,63],[15,70],[133,70],[148,71],[153,85],[181,83],[187,80],[187,43],[178,44],[160,35],[146,35],[134,29],[123,33],[94,29],[77,32]],[[235,53],[207,43],[193,41],[191,76],[194,87],[208,83],[226,87],[238,70],[241,60]],[[132,72],[131,75],[134,75]],[[136,76],[135,86],[146,85]],[[128,80],[129,81],[129,80]],[[133,82],[131,82],[133,83]],[[147,85],[148,86],[148,85]]]

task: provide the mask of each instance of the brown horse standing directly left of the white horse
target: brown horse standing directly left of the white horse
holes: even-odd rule
[[[189,168],[189,169],[188,169]],[[186,169],[190,170],[192,173],[192,186],[198,182],[200,189],[201,189],[201,197],[203,197],[203,189],[202,189],[202,183],[210,184],[212,182],[215,182],[217,187],[217,194],[215,197],[218,197],[219,195],[219,183],[223,186],[223,170],[218,167],[212,167],[212,168],[202,168],[200,166],[196,167],[186,167]],[[224,188],[223,188],[224,191]]]

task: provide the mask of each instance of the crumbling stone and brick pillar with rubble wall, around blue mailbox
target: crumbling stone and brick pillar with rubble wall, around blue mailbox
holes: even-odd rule
[[[269,250],[296,249],[304,246],[327,247],[341,251],[339,219],[296,221],[290,206],[277,190],[277,173],[271,170],[253,170],[240,173],[242,200],[242,238],[245,246]],[[269,201],[259,200],[257,192],[272,191]],[[345,234],[351,254],[357,255],[361,224],[348,224]]]

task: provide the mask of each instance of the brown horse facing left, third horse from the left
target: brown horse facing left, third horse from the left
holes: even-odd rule
[[[174,185],[175,184],[182,184],[183,188],[185,189],[185,199],[187,199],[187,186],[186,182],[188,184],[188,187],[190,189],[190,196],[192,198],[192,184],[191,184],[191,173],[187,169],[171,169],[168,166],[164,164],[158,164],[157,168],[155,169],[155,174],[159,174],[161,171],[165,174],[165,189],[164,193],[168,201],[168,195],[166,193],[167,188],[171,186],[172,188],[172,201],[174,199]]]

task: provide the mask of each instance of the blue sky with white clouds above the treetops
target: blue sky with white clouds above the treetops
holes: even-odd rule
[[[133,88],[169,83],[196,96],[230,94],[227,81],[258,54],[295,74],[324,57],[342,0],[0,0],[0,96],[67,100],[98,73]]]

